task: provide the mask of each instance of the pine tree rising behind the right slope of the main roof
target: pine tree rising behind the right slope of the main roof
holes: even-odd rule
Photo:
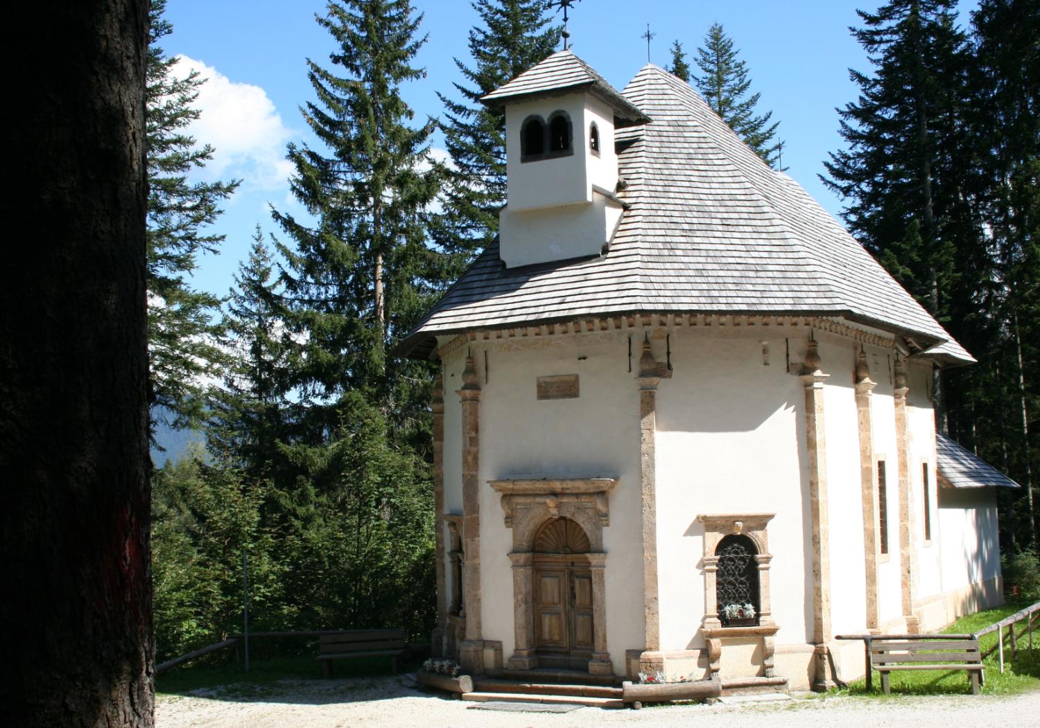
[[[704,46],[697,49],[697,65],[703,75],[695,76],[694,84],[730,129],[766,164],[776,166],[783,143],[776,139],[780,123],[770,124],[772,111],[755,115],[761,93],[748,96],[751,79],[748,78],[747,63],[739,59],[738,54],[722,25],[712,23],[704,35]]]

